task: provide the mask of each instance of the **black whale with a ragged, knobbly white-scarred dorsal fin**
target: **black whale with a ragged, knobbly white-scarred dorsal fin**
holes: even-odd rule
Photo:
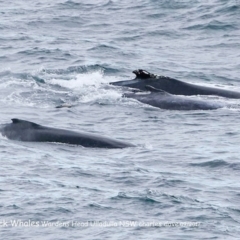
[[[200,86],[197,84],[183,82],[166,76],[158,76],[145,70],[133,71],[136,75],[133,80],[111,82],[111,85],[136,88],[145,91],[146,85],[151,85],[156,89],[161,89],[174,95],[216,95],[226,98],[240,98],[240,92],[230,91],[215,87]]]

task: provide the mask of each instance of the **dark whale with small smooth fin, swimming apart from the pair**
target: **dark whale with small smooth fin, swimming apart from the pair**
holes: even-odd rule
[[[4,137],[24,142],[55,142],[92,148],[126,148],[133,144],[90,133],[45,127],[34,122],[13,118],[0,130]]]

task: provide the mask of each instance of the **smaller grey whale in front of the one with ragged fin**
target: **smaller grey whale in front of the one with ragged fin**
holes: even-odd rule
[[[123,97],[133,98],[153,107],[167,110],[214,110],[223,107],[220,103],[193,99],[187,96],[177,96],[150,85],[144,91],[133,91],[123,94]]]

